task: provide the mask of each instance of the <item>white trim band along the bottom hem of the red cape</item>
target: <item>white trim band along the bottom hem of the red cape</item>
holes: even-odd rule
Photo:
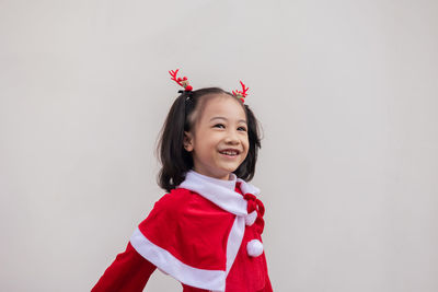
[[[180,282],[206,290],[226,290],[226,271],[197,269],[185,265],[168,250],[151,243],[138,227],[134,231],[130,243],[143,258]]]

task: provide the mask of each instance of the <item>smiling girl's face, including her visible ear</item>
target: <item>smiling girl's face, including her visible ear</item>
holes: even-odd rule
[[[229,179],[247,155],[245,112],[235,97],[226,94],[206,103],[193,129],[185,132],[184,148],[192,152],[195,172]]]

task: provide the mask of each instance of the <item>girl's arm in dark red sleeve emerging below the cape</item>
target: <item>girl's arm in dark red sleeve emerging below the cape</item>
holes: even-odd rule
[[[155,268],[128,243],[91,291],[142,291]]]

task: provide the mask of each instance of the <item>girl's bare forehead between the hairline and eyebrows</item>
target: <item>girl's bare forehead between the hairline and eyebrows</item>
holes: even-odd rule
[[[220,116],[227,119],[246,120],[243,105],[234,97],[228,94],[216,94],[208,96],[200,113],[200,119],[210,119]]]

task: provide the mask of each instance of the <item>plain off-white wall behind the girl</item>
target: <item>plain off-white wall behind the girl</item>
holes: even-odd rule
[[[275,291],[438,291],[438,2],[0,0],[0,290],[88,291],[164,192],[181,68],[250,86]],[[181,291],[155,272],[148,291]]]

